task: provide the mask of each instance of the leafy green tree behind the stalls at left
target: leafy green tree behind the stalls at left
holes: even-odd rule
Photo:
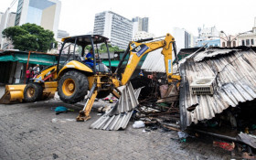
[[[13,42],[16,49],[24,51],[47,52],[52,43],[57,44],[52,31],[36,24],[27,23],[19,27],[7,27],[2,34]]]

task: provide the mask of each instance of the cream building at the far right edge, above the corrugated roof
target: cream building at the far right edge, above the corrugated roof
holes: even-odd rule
[[[254,18],[254,27],[252,27],[252,30],[239,34],[238,41],[239,46],[256,46],[256,17]]]

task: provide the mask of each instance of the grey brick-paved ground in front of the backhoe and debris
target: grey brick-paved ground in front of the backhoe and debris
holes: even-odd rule
[[[52,107],[66,106],[75,112],[56,115]],[[0,104],[0,159],[229,159],[230,153],[207,139],[180,143],[176,132],[161,129],[143,132],[89,129],[99,116],[74,122],[81,105],[61,101]],[[57,121],[54,121],[54,120]]]

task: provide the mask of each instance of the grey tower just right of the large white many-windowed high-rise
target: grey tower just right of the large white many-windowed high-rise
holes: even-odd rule
[[[148,17],[133,17],[133,37],[139,31],[148,32]]]

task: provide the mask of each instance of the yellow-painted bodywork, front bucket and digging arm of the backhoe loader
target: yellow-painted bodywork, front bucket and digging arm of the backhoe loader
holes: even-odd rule
[[[65,39],[64,39],[65,40]],[[154,51],[158,48],[163,48],[162,54],[165,57],[165,72],[168,83],[172,83],[176,81],[176,85],[179,85],[179,80],[181,80],[180,76],[173,75],[173,66],[172,66],[172,51],[173,51],[173,43],[175,42],[175,38],[170,34],[165,36],[164,40],[156,40],[152,42],[136,42],[131,41],[129,44],[129,53],[130,57],[127,62],[126,68],[123,72],[123,79],[120,81],[117,79],[116,74],[112,73],[104,73],[104,72],[96,72],[94,70],[86,66],[85,64],[77,61],[71,60],[62,68],[60,67],[59,73],[57,74],[57,66],[52,66],[48,69],[41,71],[41,73],[37,76],[37,80],[35,82],[42,83],[43,87],[43,96],[54,95],[54,93],[58,90],[58,82],[65,73],[70,70],[79,70],[79,72],[83,73],[89,83],[89,98],[83,108],[80,111],[80,115],[77,117],[78,121],[85,121],[90,119],[91,107],[97,94],[112,92],[114,96],[117,98],[120,97],[121,92],[118,91],[118,87],[121,85],[127,84],[127,82],[131,79],[134,70],[136,69],[140,59],[144,57],[145,54]],[[67,79],[68,80],[68,79]],[[61,80],[60,80],[61,81]],[[60,82],[59,82],[60,83]],[[63,85],[66,83],[64,82]],[[74,88],[74,83],[67,82],[67,85],[63,88],[59,88],[64,90],[65,88]],[[24,89],[26,85],[7,85],[5,87],[5,95],[1,99],[2,102],[8,103],[10,101],[22,101],[24,99]],[[71,90],[70,90],[71,91]],[[67,95],[69,93],[66,91]],[[66,95],[66,94],[65,94]],[[71,95],[72,96],[72,92]],[[0,101],[0,102],[1,102]]]

